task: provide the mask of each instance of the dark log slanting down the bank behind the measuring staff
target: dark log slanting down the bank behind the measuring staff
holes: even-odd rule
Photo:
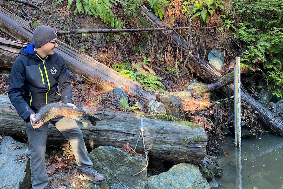
[[[145,6],[142,6],[141,10],[143,11],[144,17],[146,17],[150,22],[155,25],[164,26],[164,24],[158,18],[156,18],[154,14],[148,12],[148,9]],[[177,36],[176,34],[172,33],[172,31],[163,32],[164,34],[169,35],[172,38],[175,45],[179,45],[179,47],[183,48],[185,51],[189,49],[188,42],[185,41],[181,36]],[[186,55],[184,56],[186,57]],[[223,76],[220,71],[215,69],[208,61],[198,56],[195,51],[192,51],[189,60],[190,62],[186,64],[187,68],[196,73],[200,78],[208,83],[215,82]],[[234,95],[233,84],[228,84],[227,86],[221,88],[221,90],[227,97]],[[241,89],[241,99],[253,106],[253,110],[259,115],[259,121],[264,127],[269,128],[277,135],[283,136],[282,119],[276,117],[274,113],[262,106],[244,89]]]

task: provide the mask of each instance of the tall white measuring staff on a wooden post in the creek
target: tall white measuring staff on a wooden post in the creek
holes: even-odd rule
[[[241,146],[241,58],[236,57],[236,66],[234,67],[234,97],[235,97],[235,145]]]

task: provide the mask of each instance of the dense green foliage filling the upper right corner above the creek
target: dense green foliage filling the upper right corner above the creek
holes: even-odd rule
[[[236,34],[234,37],[244,43],[246,51],[241,62],[261,67],[267,88],[272,94],[283,97],[282,1],[235,0],[227,17],[222,17],[226,27]]]

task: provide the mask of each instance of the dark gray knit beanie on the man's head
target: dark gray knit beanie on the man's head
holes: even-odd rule
[[[37,26],[33,32],[34,48],[45,45],[52,39],[57,38],[56,32],[49,26]]]

